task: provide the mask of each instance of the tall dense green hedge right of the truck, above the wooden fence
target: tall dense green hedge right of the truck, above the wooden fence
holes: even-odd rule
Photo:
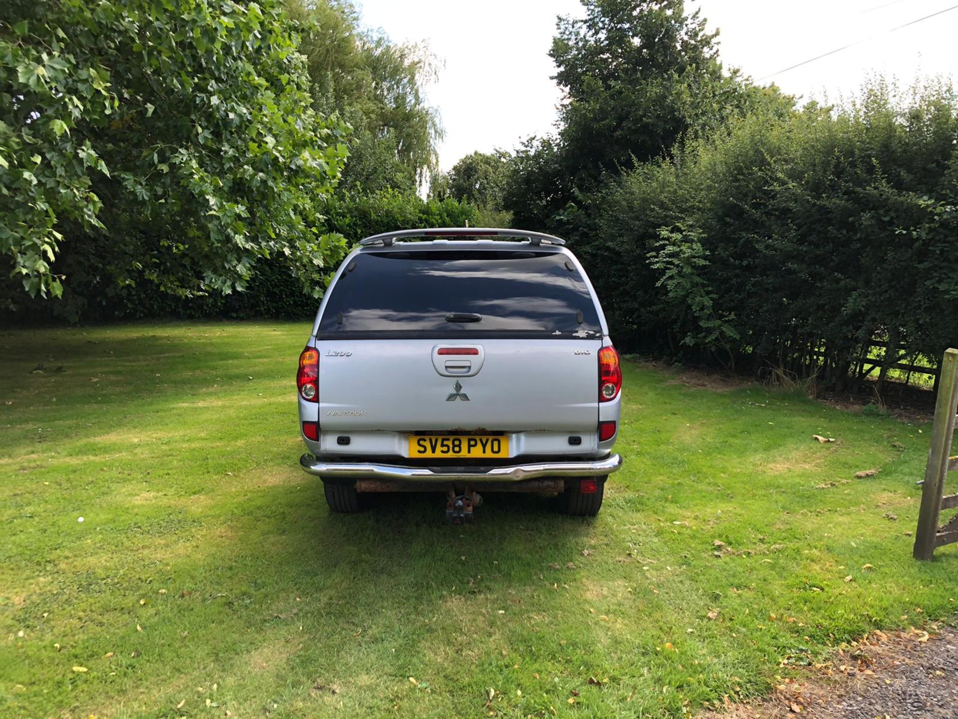
[[[840,386],[873,338],[890,361],[958,341],[955,197],[951,87],[876,81],[837,107],[753,112],[625,174],[577,246],[627,348],[684,344]]]

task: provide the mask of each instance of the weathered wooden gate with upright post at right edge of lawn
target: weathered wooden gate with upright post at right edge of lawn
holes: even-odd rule
[[[931,426],[931,451],[924,470],[922,508],[915,532],[916,559],[933,559],[935,547],[958,542],[958,514],[939,527],[941,513],[958,507],[958,494],[945,494],[945,479],[958,470],[958,456],[951,456],[958,414],[958,350],[950,349],[942,360],[935,421]]]

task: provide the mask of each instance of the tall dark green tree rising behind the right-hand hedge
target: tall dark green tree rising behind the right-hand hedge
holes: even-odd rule
[[[668,155],[763,94],[723,70],[718,34],[683,0],[582,5],[584,17],[559,18],[550,52],[564,95],[558,134],[519,152],[506,193],[523,223],[563,228],[567,205],[582,206],[604,175]]]

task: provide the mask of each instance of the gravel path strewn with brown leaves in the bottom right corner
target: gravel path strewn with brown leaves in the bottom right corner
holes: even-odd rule
[[[843,663],[847,662],[847,663]],[[700,719],[958,719],[958,632],[880,632],[834,658],[831,672],[777,687],[761,705]]]

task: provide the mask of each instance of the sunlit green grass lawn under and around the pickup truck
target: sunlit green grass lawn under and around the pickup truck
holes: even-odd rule
[[[297,461],[307,336],[0,335],[0,716],[680,717],[958,610],[958,546],[906,536],[926,426],[627,363],[595,520],[333,516]]]

